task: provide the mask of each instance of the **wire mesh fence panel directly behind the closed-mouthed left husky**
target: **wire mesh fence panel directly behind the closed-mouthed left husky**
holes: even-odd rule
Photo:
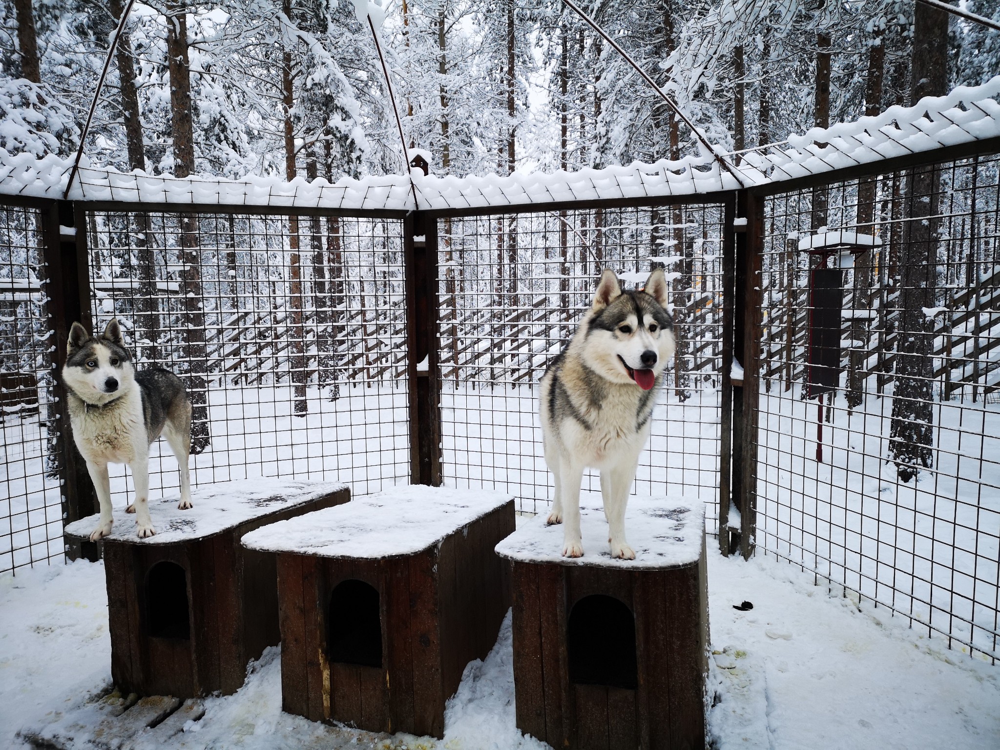
[[[88,214],[95,328],[117,316],[136,367],[180,375],[194,404],[192,482],[409,478],[402,221]],[[112,499],[132,478],[113,465]],[[154,496],[177,492],[162,441]]]

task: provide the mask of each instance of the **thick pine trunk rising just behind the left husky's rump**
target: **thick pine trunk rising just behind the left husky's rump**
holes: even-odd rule
[[[194,123],[191,113],[191,68],[188,61],[187,17],[180,3],[170,3],[167,16],[167,56],[170,75],[171,134],[174,175],[187,177],[194,172]],[[186,387],[191,398],[191,452],[201,453],[209,444],[208,357],[205,349],[205,309],[201,290],[201,258],[198,218],[182,214],[181,283],[184,288],[184,320],[187,324],[184,359],[188,374]]]

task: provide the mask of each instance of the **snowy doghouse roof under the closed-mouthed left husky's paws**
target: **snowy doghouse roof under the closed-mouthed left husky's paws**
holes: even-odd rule
[[[106,537],[116,542],[132,544],[172,544],[204,539],[235,528],[253,518],[262,518],[281,510],[326,497],[347,487],[337,482],[304,482],[292,479],[240,479],[215,482],[191,491],[194,507],[179,510],[179,495],[149,501],[149,514],[156,535],[140,539],[136,534],[135,516],[118,516]],[[97,526],[99,514],[81,518],[69,524],[64,533],[78,539],[89,539]]]

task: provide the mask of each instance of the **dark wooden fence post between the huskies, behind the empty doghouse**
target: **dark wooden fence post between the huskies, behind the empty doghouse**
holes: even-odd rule
[[[407,377],[410,385],[410,481],[441,484],[438,367],[437,219],[416,211],[403,221]]]

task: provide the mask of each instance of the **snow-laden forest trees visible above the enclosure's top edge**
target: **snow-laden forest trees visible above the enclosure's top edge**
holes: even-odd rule
[[[75,151],[122,0],[0,8],[0,148]],[[963,6],[997,17],[993,0]],[[584,3],[726,150],[907,104],[911,0]],[[558,1],[399,0],[381,36],[410,147],[437,174],[677,158],[686,128]],[[939,30],[940,33],[940,30]],[[953,20],[947,81],[1000,70],[989,28]],[[137,3],[85,153],[122,171],[311,179],[404,173],[371,33],[344,0]]]

